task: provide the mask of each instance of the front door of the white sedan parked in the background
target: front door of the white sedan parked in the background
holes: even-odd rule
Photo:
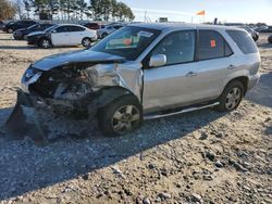
[[[53,46],[71,46],[70,26],[60,26],[51,33]]]

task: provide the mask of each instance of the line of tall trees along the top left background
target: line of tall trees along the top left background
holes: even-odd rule
[[[0,0],[0,2],[10,1]],[[33,13],[40,20],[83,20],[84,16],[94,21],[133,21],[135,18],[131,8],[116,0],[13,0],[10,8],[16,11],[20,18],[29,18]],[[1,17],[2,11],[0,9],[0,18],[11,17]]]

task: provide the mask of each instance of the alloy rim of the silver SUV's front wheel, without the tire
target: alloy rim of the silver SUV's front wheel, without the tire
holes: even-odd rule
[[[116,133],[133,130],[140,122],[140,112],[134,105],[125,105],[115,111],[112,117],[112,129]]]

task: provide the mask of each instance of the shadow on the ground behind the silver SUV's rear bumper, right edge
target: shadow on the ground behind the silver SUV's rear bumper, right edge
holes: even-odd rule
[[[254,103],[272,107],[271,87],[272,87],[272,72],[268,74],[262,74],[260,82],[257,85],[257,87],[255,87],[247,93],[246,99]]]

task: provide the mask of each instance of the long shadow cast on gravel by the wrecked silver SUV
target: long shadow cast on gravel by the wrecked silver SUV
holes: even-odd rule
[[[10,113],[10,109],[0,110],[0,119],[7,120]],[[18,141],[14,142],[11,141],[12,136],[2,128],[0,201],[77,178],[131,156],[143,160],[141,152],[145,150],[183,137],[191,137],[193,131],[222,116],[224,116],[222,113],[202,110],[149,120],[137,131],[115,138],[106,138],[96,125],[87,125],[85,133],[81,133],[85,137],[76,138],[66,132],[61,140],[49,141],[46,145],[36,145],[29,139],[33,130],[23,132],[21,140],[15,137]],[[42,126],[37,122],[25,127],[29,128],[29,125],[33,129]],[[69,135],[70,137],[66,137]]]

